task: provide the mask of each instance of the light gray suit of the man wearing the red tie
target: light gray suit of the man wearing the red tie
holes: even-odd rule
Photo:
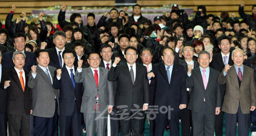
[[[107,122],[107,107],[114,105],[112,82],[107,80],[108,69],[99,67],[99,83],[96,85],[91,67],[83,68],[82,72],[75,72],[75,81],[83,82],[81,112],[84,113],[86,135],[105,135]],[[94,105],[98,93],[99,112],[95,112]],[[95,117],[99,116],[97,119]],[[97,119],[97,120],[95,120]]]

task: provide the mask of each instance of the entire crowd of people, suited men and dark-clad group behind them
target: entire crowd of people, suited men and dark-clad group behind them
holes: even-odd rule
[[[12,21],[13,5],[0,28],[0,135],[144,135],[147,122],[150,135],[223,135],[224,115],[225,135],[237,123],[256,135],[256,5],[244,5],[241,21],[204,5],[188,19],[173,4],[151,22],[135,4],[85,25],[63,4],[59,28],[43,13]]]

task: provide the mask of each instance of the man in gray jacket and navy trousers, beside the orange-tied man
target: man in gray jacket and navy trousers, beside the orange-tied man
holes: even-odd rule
[[[56,68],[48,65],[50,58],[45,49],[37,54],[38,65],[31,67],[28,86],[32,88],[34,132],[33,135],[58,135],[59,90],[52,83]]]

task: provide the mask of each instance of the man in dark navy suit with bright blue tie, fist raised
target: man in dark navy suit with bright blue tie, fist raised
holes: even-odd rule
[[[83,84],[74,80],[75,53],[64,50],[63,60],[65,65],[57,70],[53,87],[60,89],[60,135],[81,135],[81,101]]]

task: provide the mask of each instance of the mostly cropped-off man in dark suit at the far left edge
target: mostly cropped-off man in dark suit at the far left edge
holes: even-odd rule
[[[2,53],[0,51],[0,74],[3,77],[4,68],[1,64],[2,61]],[[5,89],[0,88],[0,135],[7,136],[7,91]]]

